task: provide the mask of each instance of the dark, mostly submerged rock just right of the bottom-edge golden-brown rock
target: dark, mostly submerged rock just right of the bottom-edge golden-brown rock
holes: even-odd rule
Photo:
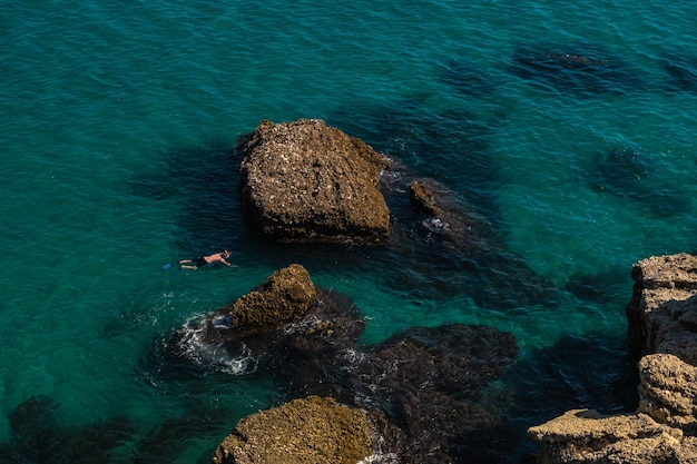
[[[384,412],[405,434],[400,463],[458,462],[463,454],[477,462],[492,452],[481,443],[500,441],[503,427],[480,404],[483,391],[517,354],[513,336],[490,327],[416,327],[366,352],[305,363],[302,393],[328,384],[342,401]]]

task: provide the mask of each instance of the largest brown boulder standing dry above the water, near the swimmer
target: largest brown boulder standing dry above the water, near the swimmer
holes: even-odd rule
[[[318,119],[262,121],[243,136],[239,191],[244,207],[282,241],[376,241],[390,233],[377,189],[384,157]]]

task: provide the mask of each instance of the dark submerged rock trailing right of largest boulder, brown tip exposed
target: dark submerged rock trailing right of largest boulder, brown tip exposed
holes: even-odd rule
[[[397,269],[397,275],[401,272],[405,278],[395,285],[405,286],[408,279],[413,280],[421,274],[426,279],[441,276],[443,285],[452,286],[451,293],[464,292],[478,305],[499,309],[556,300],[558,293],[553,283],[534,273],[520,256],[508,251],[494,227],[448,187],[434,179],[416,179],[409,191],[416,211],[414,235],[421,238],[424,250],[442,245],[443,261],[420,259],[415,269]],[[443,292],[433,284],[419,288],[422,287]]]

